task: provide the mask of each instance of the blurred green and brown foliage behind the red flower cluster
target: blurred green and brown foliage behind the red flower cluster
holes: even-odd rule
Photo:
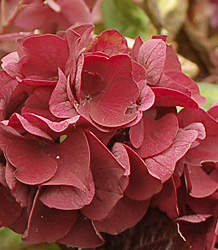
[[[184,73],[199,83],[201,94],[207,98],[203,108],[207,110],[218,101],[218,0],[103,0],[94,22],[96,34],[117,29],[129,44],[138,35],[144,41],[152,35],[167,35]],[[29,245],[11,230],[0,229],[0,250],[31,249],[60,247]]]

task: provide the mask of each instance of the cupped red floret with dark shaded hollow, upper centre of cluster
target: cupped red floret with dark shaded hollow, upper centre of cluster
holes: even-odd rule
[[[87,57],[79,113],[86,117],[88,112],[87,119],[105,127],[124,126],[136,119],[139,89],[130,73],[131,61],[127,56]]]

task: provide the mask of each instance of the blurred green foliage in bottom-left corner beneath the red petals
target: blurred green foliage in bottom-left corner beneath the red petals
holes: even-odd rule
[[[9,228],[0,228],[0,250],[60,250],[56,243],[28,244],[21,239],[21,235],[14,233]]]

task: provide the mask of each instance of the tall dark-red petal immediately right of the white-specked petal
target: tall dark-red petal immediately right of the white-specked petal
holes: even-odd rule
[[[120,179],[124,169],[112,153],[90,132],[87,138],[91,150],[91,170],[95,183],[95,196],[82,213],[90,219],[104,219],[122,198]]]

